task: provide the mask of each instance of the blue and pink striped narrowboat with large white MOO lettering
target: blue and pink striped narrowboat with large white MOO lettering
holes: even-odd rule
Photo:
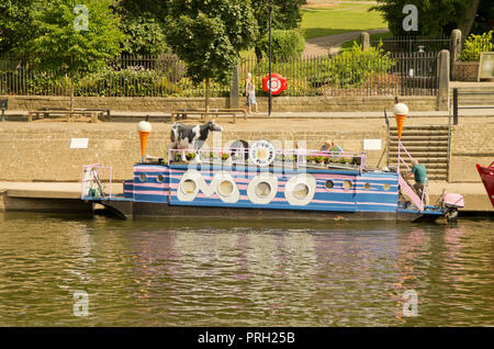
[[[439,205],[425,205],[400,166],[370,168],[364,153],[277,149],[265,139],[226,151],[190,150],[186,159],[179,151],[169,149],[167,159],[143,156],[123,194],[106,192],[103,167],[85,166],[81,199],[122,218],[307,222],[449,218],[463,204],[461,195],[446,194]]]

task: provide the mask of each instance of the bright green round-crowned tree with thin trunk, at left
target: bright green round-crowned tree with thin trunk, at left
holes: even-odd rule
[[[29,42],[34,63],[56,77],[70,79],[70,110],[74,80],[106,66],[121,52],[124,40],[120,20],[110,9],[112,0],[50,0],[34,15],[36,35]]]

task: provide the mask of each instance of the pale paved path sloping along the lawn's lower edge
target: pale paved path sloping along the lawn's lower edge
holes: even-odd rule
[[[386,33],[389,31],[390,30],[388,29],[378,29],[378,30],[370,30],[367,32],[370,35],[372,35],[379,33]],[[361,32],[362,31],[310,38],[305,42],[304,55],[306,56],[336,55],[339,52],[340,45],[343,43],[358,38]]]

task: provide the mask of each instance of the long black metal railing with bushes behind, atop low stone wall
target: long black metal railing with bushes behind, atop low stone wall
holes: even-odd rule
[[[268,60],[247,57],[239,63],[239,79],[252,74],[258,95],[267,95],[261,80]],[[205,85],[193,85],[186,64],[175,56],[122,56],[100,71],[75,81],[76,97],[204,97]],[[272,71],[288,78],[281,95],[369,97],[436,95],[438,80],[435,53],[392,53],[374,58],[311,57],[277,60]],[[211,97],[228,97],[229,83],[212,82]],[[239,94],[244,95],[240,82]],[[0,94],[70,95],[68,78],[55,78],[29,63],[0,59]]]

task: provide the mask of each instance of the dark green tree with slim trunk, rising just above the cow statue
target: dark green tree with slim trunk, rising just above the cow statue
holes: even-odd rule
[[[212,80],[228,83],[239,52],[251,47],[256,20],[249,0],[171,0],[167,41],[187,63],[194,83],[205,81],[209,111]]]

